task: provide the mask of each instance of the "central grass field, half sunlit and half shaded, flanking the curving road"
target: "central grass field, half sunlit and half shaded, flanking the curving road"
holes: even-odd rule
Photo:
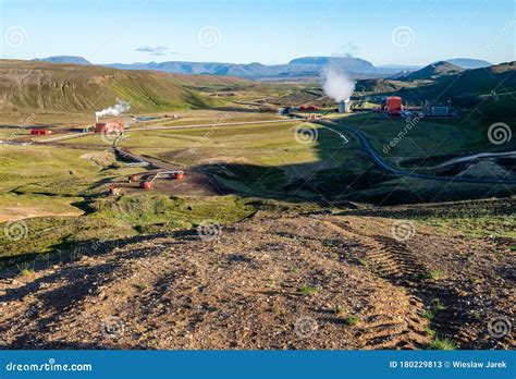
[[[489,125],[481,127],[478,118],[468,121],[421,121],[384,155],[385,159],[405,169],[425,171],[454,155],[494,150],[487,139]],[[406,124],[402,119],[371,114],[346,117],[343,122],[360,129],[380,151]],[[354,138],[342,145],[335,134],[311,126],[318,131],[318,140],[309,144],[295,140],[295,124],[134,132],[124,144],[137,152],[182,166],[200,166],[216,173],[224,185],[262,197],[397,204],[478,198],[504,190],[392,176],[379,171]],[[431,159],[426,159],[427,155]]]

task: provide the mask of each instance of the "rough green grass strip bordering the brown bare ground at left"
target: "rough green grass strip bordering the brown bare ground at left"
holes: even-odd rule
[[[10,241],[0,233],[0,258],[59,250],[77,246],[90,248],[100,241],[137,234],[189,229],[202,221],[234,222],[253,210],[250,201],[235,196],[181,199],[165,195],[88,198],[81,217],[38,217],[25,219],[27,237]]]

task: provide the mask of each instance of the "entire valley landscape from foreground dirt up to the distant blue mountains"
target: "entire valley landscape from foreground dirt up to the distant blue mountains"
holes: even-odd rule
[[[339,112],[314,77],[1,60],[2,346],[511,349],[515,65],[451,65]]]

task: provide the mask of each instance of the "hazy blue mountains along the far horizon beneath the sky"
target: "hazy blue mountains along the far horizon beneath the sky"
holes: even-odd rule
[[[35,61],[45,61],[52,63],[74,63],[91,64],[82,57],[59,56],[45,59],[35,59]],[[463,69],[479,66],[489,66],[491,63],[476,59],[452,59],[447,62]],[[323,68],[333,66],[340,71],[346,72],[352,78],[374,78],[388,77],[394,75],[405,75],[409,72],[420,69],[409,65],[381,65],[374,66],[371,62],[359,58],[351,57],[303,57],[296,58],[286,64],[266,65],[258,62],[254,63],[219,63],[219,62],[148,62],[148,63],[110,63],[103,64],[107,68],[121,70],[153,70],[174,74],[206,74],[237,76],[248,80],[278,81],[278,80],[310,80],[318,78]]]

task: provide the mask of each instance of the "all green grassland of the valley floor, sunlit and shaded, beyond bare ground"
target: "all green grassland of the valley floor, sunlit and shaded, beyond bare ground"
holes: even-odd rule
[[[188,111],[177,124],[273,120],[274,114]],[[339,120],[340,115],[335,117]],[[222,121],[221,121],[222,120]],[[471,120],[470,120],[471,121]],[[474,122],[475,121],[475,122]],[[421,121],[385,158],[402,168],[425,169],[454,155],[484,149],[478,119]],[[381,151],[405,120],[351,114],[340,122],[363,131]],[[172,121],[171,121],[172,123]],[[306,131],[299,134],[299,130]],[[8,135],[12,129],[2,129]],[[429,133],[429,131],[431,131]],[[23,219],[30,239],[9,241],[0,233],[2,256],[66,250],[96,241],[195,228],[206,219],[236,221],[256,209],[341,207],[346,201],[377,205],[507,196],[492,185],[450,184],[381,172],[357,140],[299,121],[202,129],[128,131],[123,147],[186,169],[208,172],[235,195],[181,197],[137,192],[118,198],[101,188],[140,172],[114,159],[98,136],[63,140],[61,146],[0,145],[0,222]],[[418,166],[419,164],[419,166]],[[438,229],[478,235],[512,235],[514,222],[500,212],[435,213],[416,219]],[[508,225],[508,227],[507,227]],[[483,234],[482,234],[483,233]]]

